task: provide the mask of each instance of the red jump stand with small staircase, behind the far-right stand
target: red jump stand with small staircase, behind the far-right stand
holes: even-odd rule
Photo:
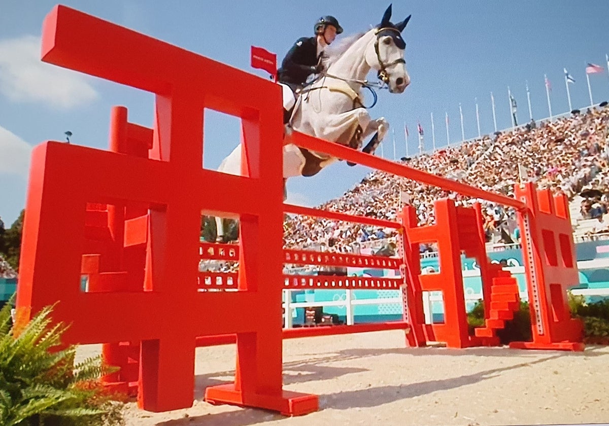
[[[411,271],[420,271],[418,246],[435,242],[438,245],[438,265],[440,271],[432,274],[413,273],[409,276],[412,288],[412,318],[414,346],[425,346],[428,341],[445,342],[448,347],[493,346],[499,344],[496,330],[505,326],[505,319],[512,319],[519,307],[518,283],[501,266],[488,262],[482,232],[480,205],[474,208],[456,207],[449,199],[434,203],[435,224],[418,226],[417,213],[407,206],[403,212],[404,252],[406,264]],[[476,329],[476,335],[469,334],[463,292],[461,253],[474,257],[480,268],[482,294],[485,301],[486,327]],[[422,292],[441,291],[444,304],[442,324],[425,324],[423,316]],[[497,300],[497,299],[501,300]],[[500,309],[497,302],[507,306]]]

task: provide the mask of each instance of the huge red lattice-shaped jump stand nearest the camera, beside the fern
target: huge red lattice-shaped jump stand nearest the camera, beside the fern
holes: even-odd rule
[[[155,148],[149,158],[139,158],[141,147],[132,151],[128,142],[127,154],[59,142],[33,149],[20,312],[36,312],[60,299],[54,319],[72,324],[65,343],[141,341],[138,403],[146,410],[190,407],[195,340],[224,334],[237,335],[238,380],[209,388],[208,400],[285,414],[317,410],[317,396],[284,391],[281,380],[280,87],[62,5],[44,21],[42,56],[155,94],[153,133],[127,125],[127,141],[151,135]],[[218,85],[218,75],[233,84]],[[205,108],[244,120],[247,176],[202,169]],[[116,134],[121,147],[124,130],[116,128]],[[231,196],[236,193],[240,196]],[[124,245],[149,249],[145,284],[125,287],[121,271],[106,279],[108,291],[81,292],[86,204],[117,200],[134,208],[122,221]],[[148,217],[142,219],[139,209],[149,211]],[[241,218],[239,291],[199,292],[201,215],[227,212]],[[64,250],[55,250],[58,240]],[[94,264],[89,260],[87,268]],[[135,253],[125,260],[135,282],[139,260]],[[253,320],[256,310],[267,315]]]

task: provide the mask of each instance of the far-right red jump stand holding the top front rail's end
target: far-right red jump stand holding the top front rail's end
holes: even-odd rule
[[[516,198],[527,204],[518,214],[533,340],[512,342],[519,349],[583,351],[583,324],[571,318],[567,290],[579,283],[571,217],[565,195],[516,185]]]

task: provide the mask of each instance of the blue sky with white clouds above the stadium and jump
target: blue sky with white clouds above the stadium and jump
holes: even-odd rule
[[[70,130],[72,143],[107,147],[113,105],[127,106],[131,121],[152,125],[149,93],[38,61],[41,23],[54,4],[0,0],[0,217],[7,225],[24,206],[32,146],[64,140],[63,133]],[[281,61],[298,37],[311,35],[319,16],[336,16],[348,35],[377,24],[389,2],[73,0],[64,4],[266,78],[264,72],[250,68],[252,44],[276,52]],[[566,112],[563,67],[577,80],[571,85],[574,107],[590,103],[586,62],[605,68],[604,74],[591,75],[594,102],[609,100],[606,0],[393,2],[394,22],[409,14],[412,19],[403,35],[412,84],[404,94],[382,92],[370,111],[373,117],[389,120],[398,156],[405,153],[404,122],[410,130],[410,153],[418,145],[418,120],[431,148],[430,113],[435,117],[438,146],[446,144],[445,111],[451,142],[460,141],[459,103],[466,139],[476,136],[476,97],[482,133],[493,131],[491,91],[498,127],[510,127],[507,86],[518,101],[519,120],[528,119],[525,80],[533,116],[547,117],[544,74],[552,83],[553,113]],[[219,84],[231,84],[218,79]],[[204,166],[215,169],[238,140],[236,119],[206,113]],[[384,142],[384,155],[393,157],[391,133]],[[313,178],[290,180],[289,200],[322,203],[343,194],[368,172],[361,166],[334,164]]]

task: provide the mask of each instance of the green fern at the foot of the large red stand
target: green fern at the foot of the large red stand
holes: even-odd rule
[[[122,425],[121,404],[103,393],[100,358],[74,365],[76,347],[59,350],[66,327],[52,307],[13,326],[11,304],[0,310],[0,424],[2,426]],[[19,321],[18,321],[19,323]]]

